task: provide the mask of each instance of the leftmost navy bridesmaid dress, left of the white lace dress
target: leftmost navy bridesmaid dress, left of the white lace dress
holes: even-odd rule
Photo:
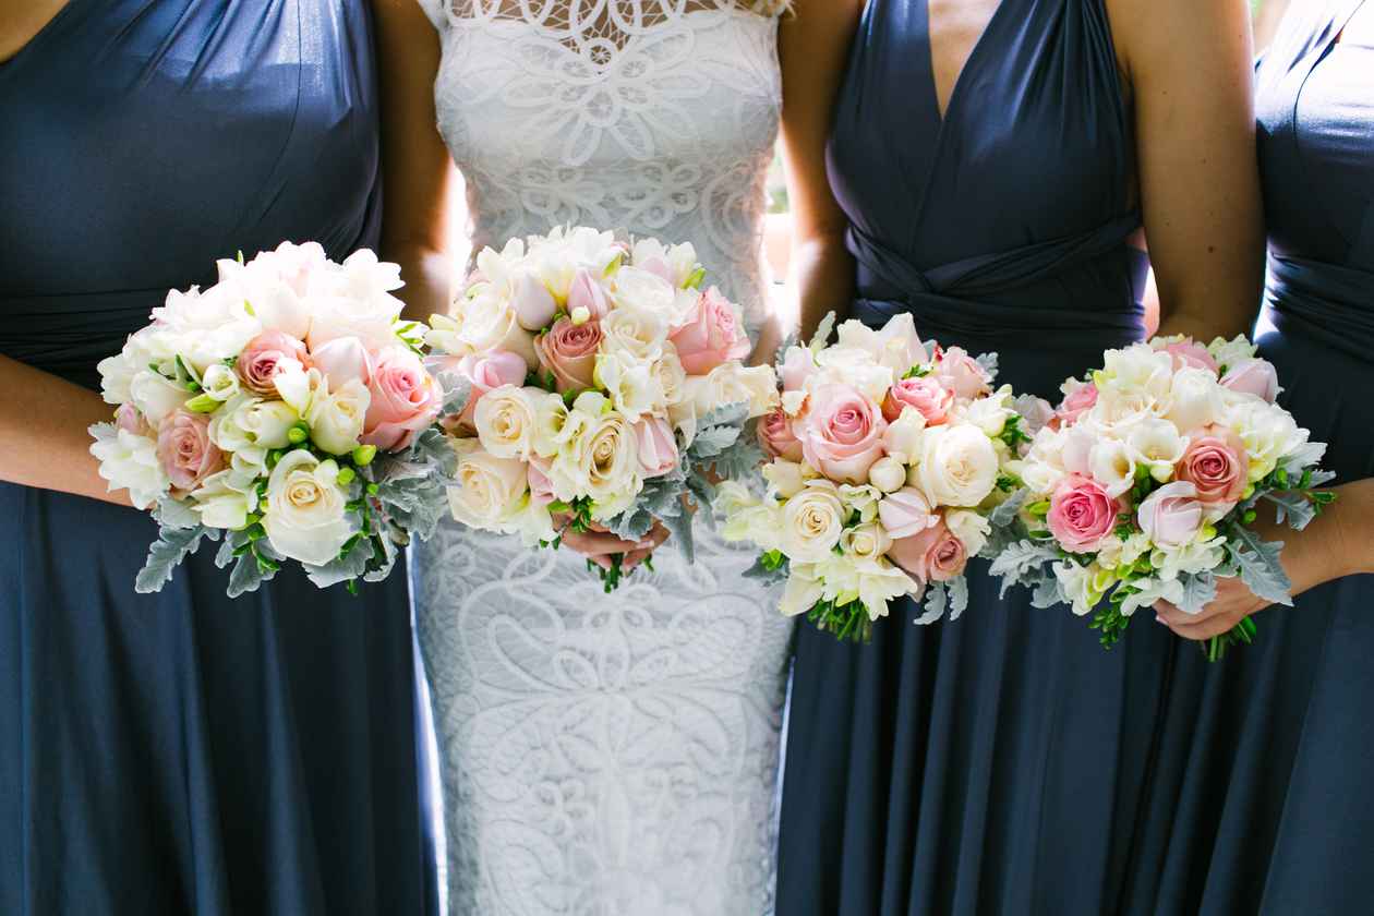
[[[70,0],[0,65],[0,353],[96,389],[216,258],[375,246],[376,102],[364,0]],[[0,913],[437,909],[403,575],[139,596],[143,514],[0,519]]]

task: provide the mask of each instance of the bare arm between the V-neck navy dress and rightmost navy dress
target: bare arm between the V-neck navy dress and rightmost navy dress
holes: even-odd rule
[[[1248,332],[1264,283],[1245,0],[1109,0],[1131,82],[1160,332]]]

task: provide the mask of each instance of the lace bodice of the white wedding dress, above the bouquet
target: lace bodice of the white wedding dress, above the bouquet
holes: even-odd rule
[[[567,222],[690,240],[757,325],[782,0],[422,3],[474,249]]]

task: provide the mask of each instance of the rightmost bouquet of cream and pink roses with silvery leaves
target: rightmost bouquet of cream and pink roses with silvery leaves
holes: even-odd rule
[[[1303,529],[1334,499],[1326,445],[1274,401],[1274,367],[1243,336],[1201,346],[1161,338],[1109,350],[1063,386],[1063,402],[1014,468],[1024,488],[995,519],[992,571],[1035,589],[1035,606],[1092,615],[1113,645],[1132,614],[1167,600],[1200,612],[1219,577],[1292,604],[1279,542],[1246,527],[1261,500]],[[1102,599],[1107,599],[1102,604]],[[1204,645],[1216,661],[1253,621]]]

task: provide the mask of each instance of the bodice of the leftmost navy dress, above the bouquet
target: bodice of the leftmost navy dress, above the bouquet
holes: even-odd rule
[[[363,0],[70,0],[0,65],[0,352],[89,382],[93,361],[44,341],[118,349],[238,250],[374,243],[367,16]]]

